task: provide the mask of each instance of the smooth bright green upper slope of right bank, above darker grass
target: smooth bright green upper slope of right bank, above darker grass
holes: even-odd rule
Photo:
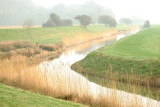
[[[125,59],[160,60],[160,26],[146,29],[97,52]]]

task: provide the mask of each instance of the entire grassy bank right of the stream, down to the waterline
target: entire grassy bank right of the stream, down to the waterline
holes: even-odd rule
[[[72,68],[101,85],[113,87],[110,82],[117,81],[118,89],[160,99],[159,29],[145,29],[98,49]]]

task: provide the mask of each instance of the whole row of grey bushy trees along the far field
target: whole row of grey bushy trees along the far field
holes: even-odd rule
[[[77,15],[74,17],[75,20],[78,20],[80,25],[83,27],[87,27],[89,24],[92,23],[101,23],[104,24],[106,27],[116,27],[117,21],[113,16],[110,15],[100,15],[96,22],[93,21],[93,17],[90,17],[88,15]],[[30,23],[29,23],[30,22]],[[127,24],[131,25],[133,24],[132,20],[129,18],[121,18],[119,20],[119,23],[121,24]],[[26,22],[28,27],[31,25],[31,21]],[[60,16],[58,16],[55,13],[50,14],[49,19],[43,23],[42,27],[58,27],[58,26],[72,26],[73,22],[71,19],[61,19]],[[144,24],[141,24],[142,28],[148,28],[150,27],[150,21],[146,20]]]

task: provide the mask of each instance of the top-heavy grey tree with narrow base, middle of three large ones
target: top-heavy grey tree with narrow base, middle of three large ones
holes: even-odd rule
[[[81,26],[84,26],[85,28],[92,23],[91,17],[87,15],[78,15],[75,19],[79,20]]]

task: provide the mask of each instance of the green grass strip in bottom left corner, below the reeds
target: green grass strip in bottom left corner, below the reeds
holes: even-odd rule
[[[34,94],[0,83],[1,107],[85,107],[80,104]]]

